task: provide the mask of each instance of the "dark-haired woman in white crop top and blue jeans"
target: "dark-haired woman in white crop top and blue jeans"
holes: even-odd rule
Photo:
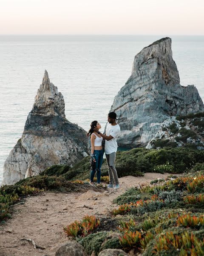
[[[91,128],[87,134],[88,137],[91,137],[91,157],[95,162],[94,167],[91,169],[91,177],[89,184],[94,186],[94,175],[97,172],[97,186],[99,186],[101,182],[101,166],[104,154],[104,151],[102,149],[103,138],[99,134],[97,134],[96,131],[94,131],[94,128],[101,128],[99,122],[93,121],[91,123]]]

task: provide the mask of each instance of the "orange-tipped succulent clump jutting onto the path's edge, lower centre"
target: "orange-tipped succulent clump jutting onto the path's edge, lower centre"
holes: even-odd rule
[[[82,221],[74,221],[67,227],[64,227],[64,231],[67,236],[87,236],[100,224],[100,220],[95,216],[86,215]]]

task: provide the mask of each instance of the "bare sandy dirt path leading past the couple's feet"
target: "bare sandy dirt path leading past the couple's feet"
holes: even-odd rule
[[[58,244],[68,239],[63,227],[86,214],[105,217],[116,207],[113,199],[131,186],[167,176],[168,174],[146,173],[143,177],[122,177],[119,179],[121,187],[118,190],[89,190],[83,194],[47,192],[28,197],[24,204],[14,206],[13,218],[0,226],[0,256],[54,256]],[[82,208],[84,205],[94,209]],[[33,239],[37,245],[47,249],[34,249],[31,242],[20,241],[22,238]]]

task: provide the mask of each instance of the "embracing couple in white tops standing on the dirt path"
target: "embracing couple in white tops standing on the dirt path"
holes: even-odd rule
[[[106,134],[102,134],[99,129],[101,125],[97,121],[91,123],[91,128],[88,131],[88,136],[91,137],[91,177],[90,185],[94,185],[94,175],[97,175],[97,186],[100,185],[101,180],[101,166],[103,162],[103,154],[105,151],[105,156],[108,164],[108,174],[109,174],[109,185],[108,188],[118,189],[119,180],[115,167],[116,151],[118,144],[116,139],[120,133],[120,126],[116,123],[116,113],[110,112],[108,114],[108,125],[106,126]],[[102,147],[102,140],[105,140],[105,149]],[[115,186],[113,182],[115,181]]]

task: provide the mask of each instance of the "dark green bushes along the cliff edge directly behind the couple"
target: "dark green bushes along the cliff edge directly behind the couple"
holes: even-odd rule
[[[90,178],[90,158],[85,157],[72,168],[67,165],[55,165],[45,169],[40,176],[58,176],[65,180],[86,180]],[[134,148],[118,151],[116,169],[119,177],[143,176],[145,172],[181,173],[192,168],[195,163],[204,163],[204,151],[192,148]],[[102,164],[102,176],[108,176],[106,160]]]

